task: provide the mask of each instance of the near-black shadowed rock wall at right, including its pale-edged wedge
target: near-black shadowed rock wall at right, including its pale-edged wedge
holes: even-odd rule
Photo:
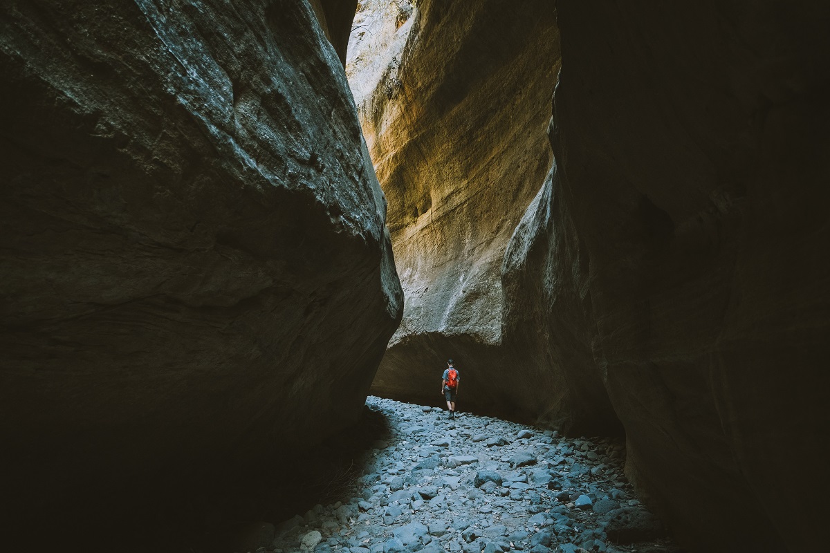
[[[828,12],[777,6],[560,1],[557,167],[505,258],[505,342],[575,385],[552,420],[597,424],[601,379],[691,551],[824,541]]]

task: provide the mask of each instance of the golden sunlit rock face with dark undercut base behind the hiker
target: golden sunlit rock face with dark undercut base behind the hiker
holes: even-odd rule
[[[494,387],[511,377],[500,349],[500,268],[549,168],[540,152],[558,70],[555,12],[549,2],[516,10],[422,1],[398,2],[392,15],[388,49],[378,53],[387,65],[373,66],[360,44],[347,65],[406,296],[372,390],[437,403],[453,357],[466,408],[515,410]],[[359,74],[379,82],[355,83]]]

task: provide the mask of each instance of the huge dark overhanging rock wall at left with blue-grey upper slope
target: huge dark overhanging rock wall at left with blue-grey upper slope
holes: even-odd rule
[[[310,6],[97,4],[0,8],[6,500],[322,439],[401,316]]]

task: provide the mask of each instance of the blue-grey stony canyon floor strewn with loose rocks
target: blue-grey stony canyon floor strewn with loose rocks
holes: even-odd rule
[[[372,396],[367,405],[388,419],[388,436],[364,453],[353,497],[298,513],[276,535],[251,528],[251,551],[679,551],[634,497],[622,441],[453,421]]]

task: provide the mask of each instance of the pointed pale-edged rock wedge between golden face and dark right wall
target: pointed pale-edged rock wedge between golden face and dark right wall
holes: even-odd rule
[[[505,253],[504,347],[525,375],[507,393],[536,424],[616,434],[619,421],[593,357],[588,252],[560,191],[554,163]]]

